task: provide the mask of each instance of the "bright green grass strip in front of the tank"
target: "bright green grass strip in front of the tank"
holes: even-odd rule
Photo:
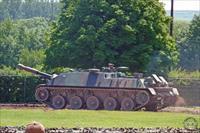
[[[38,121],[45,127],[180,127],[187,117],[170,112],[122,112],[88,110],[0,109],[0,126],[25,126]]]

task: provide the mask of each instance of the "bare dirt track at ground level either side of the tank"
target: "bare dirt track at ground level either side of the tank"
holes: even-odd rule
[[[51,109],[44,104],[0,104],[0,108],[43,108],[45,110]],[[200,107],[167,107],[160,110],[159,112],[177,112],[200,115]]]

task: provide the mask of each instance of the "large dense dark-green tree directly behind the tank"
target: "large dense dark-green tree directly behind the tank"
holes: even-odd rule
[[[158,0],[63,0],[46,51],[49,68],[101,67],[109,62],[144,71],[151,56],[177,59],[170,18]]]

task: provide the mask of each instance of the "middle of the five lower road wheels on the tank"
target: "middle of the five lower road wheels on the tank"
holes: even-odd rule
[[[97,110],[99,108],[99,99],[95,96],[90,96],[86,101],[87,109]]]

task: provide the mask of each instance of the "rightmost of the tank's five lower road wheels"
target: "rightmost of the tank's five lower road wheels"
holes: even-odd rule
[[[129,97],[126,97],[121,102],[121,110],[131,111],[135,107],[135,103]]]

